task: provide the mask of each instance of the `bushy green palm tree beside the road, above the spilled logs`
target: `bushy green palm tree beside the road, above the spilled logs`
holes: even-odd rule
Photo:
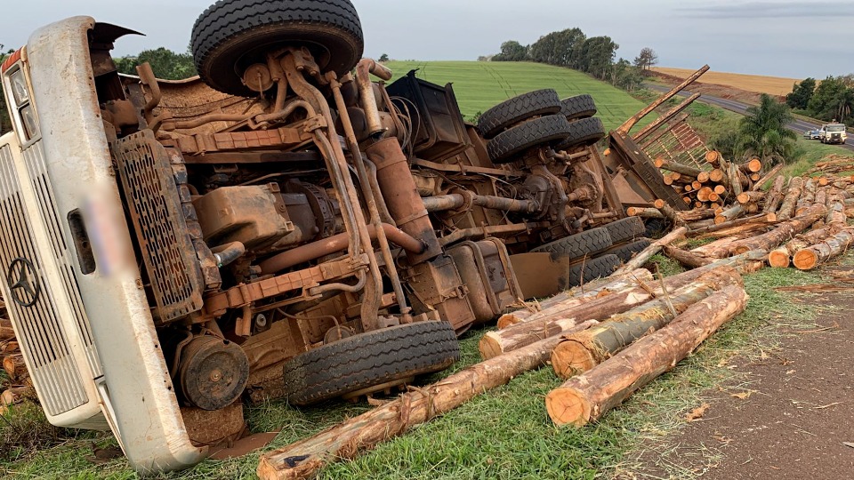
[[[786,128],[792,109],[763,94],[758,106],[747,108],[739,126],[741,149],[767,164],[793,161],[797,134]]]

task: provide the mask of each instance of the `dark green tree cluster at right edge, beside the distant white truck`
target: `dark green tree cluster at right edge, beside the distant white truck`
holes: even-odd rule
[[[854,74],[828,76],[820,83],[807,78],[794,84],[786,95],[786,105],[818,120],[854,126]]]

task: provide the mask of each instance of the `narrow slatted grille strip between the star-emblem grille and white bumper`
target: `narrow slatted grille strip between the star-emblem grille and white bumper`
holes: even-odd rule
[[[60,227],[61,217],[56,207],[51,182],[47,177],[47,165],[44,164],[44,151],[42,150],[42,143],[40,141],[24,150],[24,163],[27,164],[29,178],[32,179],[33,189],[36,191],[38,207],[42,212],[48,236],[51,238],[53,256],[60,267],[62,286],[68,293],[71,308],[74,309],[77,332],[80,335],[80,340],[83,341],[86,360],[89,363],[89,367],[92,368],[93,378],[98,378],[102,375],[101,359],[98,356],[98,350],[95,348],[92,339],[92,327],[89,324],[89,317],[86,316],[86,310],[80,296],[80,288],[77,285],[77,272],[72,267],[70,252],[68,252],[68,243]]]

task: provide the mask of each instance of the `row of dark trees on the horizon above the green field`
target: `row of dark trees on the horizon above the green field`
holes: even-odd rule
[[[647,47],[633,62],[615,61],[619,47],[610,36],[588,37],[581,28],[567,28],[541,36],[530,45],[508,40],[501,44],[501,52],[478,60],[534,61],[573,68],[631,91],[641,85],[644,70],[656,65],[658,56]]]

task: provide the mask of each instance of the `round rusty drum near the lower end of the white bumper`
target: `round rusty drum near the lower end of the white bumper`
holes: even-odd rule
[[[237,344],[205,335],[181,350],[178,376],[181,393],[190,404],[220,410],[234,403],[246,388],[249,359]]]

